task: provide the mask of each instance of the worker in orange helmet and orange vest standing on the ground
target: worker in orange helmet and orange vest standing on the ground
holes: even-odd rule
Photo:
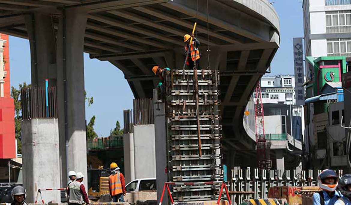
[[[126,187],[124,183],[124,176],[119,171],[119,167],[116,163],[110,164],[111,175],[108,177],[108,188],[110,189],[110,196],[113,202],[124,202],[126,195]]]

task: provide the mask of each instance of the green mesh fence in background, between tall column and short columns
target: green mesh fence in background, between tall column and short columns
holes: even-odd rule
[[[102,137],[87,140],[88,150],[113,149],[123,147],[123,140],[119,138]]]

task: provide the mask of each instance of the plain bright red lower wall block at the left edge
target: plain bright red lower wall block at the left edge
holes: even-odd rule
[[[16,158],[15,106],[12,98],[0,98],[0,158]]]

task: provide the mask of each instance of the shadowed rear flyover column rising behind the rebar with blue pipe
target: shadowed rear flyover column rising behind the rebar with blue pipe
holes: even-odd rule
[[[32,85],[56,86],[56,40],[50,15],[33,12],[24,15],[31,47]]]

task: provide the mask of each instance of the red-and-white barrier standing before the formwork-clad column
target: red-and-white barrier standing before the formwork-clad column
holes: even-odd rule
[[[229,205],[232,205],[232,201],[231,201],[230,196],[229,196],[228,188],[227,188],[227,185],[225,184],[224,181],[219,181],[219,182],[165,182],[165,185],[163,186],[163,191],[162,191],[162,195],[161,195],[161,199],[160,199],[159,205],[162,204],[163,196],[165,194],[166,188],[167,188],[168,196],[170,197],[170,200],[171,200],[171,204],[174,205],[174,201],[173,201],[173,197],[172,197],[172,194],[171,194],[171,190],[170,190],[170,187],[168,185],[193,186],[193,185],[209,185],[209,184],[221,184],[221,188],[220,188],[219,196],[218,196],[218,200],[217,200],[217,205],[219,205],[219,203],[220,203],[220,199],[221,199],[221,196],[222,196],[222,193],[223,193],[223,188],[225,189],[225,192],[226,192],[226,195],[227,195],[227,199],[229,201]]]

